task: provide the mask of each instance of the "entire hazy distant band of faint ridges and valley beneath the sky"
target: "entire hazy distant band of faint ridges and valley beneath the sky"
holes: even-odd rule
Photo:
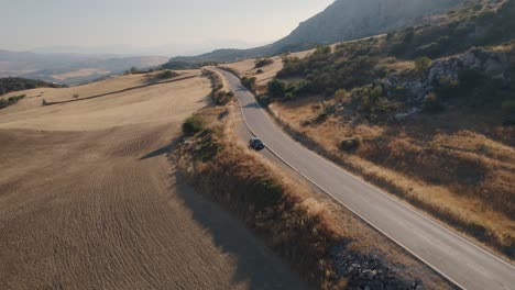
[[[226,45],[245,48],[262,44],[239,40],[207,40],[202,43],[156,47],[108,45],[48,46],[30,52],[0,49],[0,78],[23,77],[61,85],[79,85],[123,72],[132,67],[155,67],[166,63],[171,55],[197,55]]]

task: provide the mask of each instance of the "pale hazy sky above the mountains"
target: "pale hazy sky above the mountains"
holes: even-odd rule
[[[333,0],[0,0],[0,49],[272,42]]]

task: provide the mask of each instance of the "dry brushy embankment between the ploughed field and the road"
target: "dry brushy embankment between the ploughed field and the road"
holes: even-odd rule
[[[243,220],[317,288],[450,288],[329,197],[249,150],[233,131],[241,122],[234,110],[233,102],[208,108],[188,121],[200,125],[175,156],[199,192]]]

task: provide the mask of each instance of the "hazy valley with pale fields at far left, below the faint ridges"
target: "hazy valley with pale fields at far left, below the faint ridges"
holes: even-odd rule
[[[23,77],[61,85],[78,85],[131,67],[146,68],[166,63],[163,56],[118,56],[85,54],[37,54],[0,51],[0,78]]]

